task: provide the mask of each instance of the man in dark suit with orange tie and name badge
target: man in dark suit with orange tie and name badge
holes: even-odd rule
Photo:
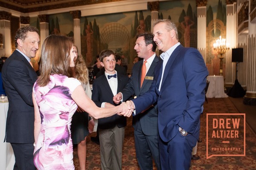
[[[134,49],[136,50],[138,57],[143,58],[143,60],[134,64],[131,82],[113,97],[113,101],[116,104],[121,100],[127,100],[134,94],[135,96],[141,96],[150,88],[154,78],[154,68],[157,65],[157,62],[161,60],[154,52],[157,45],[153,38],[153,34],[149,33],[140,34],[137,37]],[[142,83],[143,63],[145,63],[146,66],[146,74]],[[158,111],[156,103],[133,117],[132,125],[134,127],[136,156],[141,170],[153,169],[152,157],[157,169],[161,169],[157,117]]]

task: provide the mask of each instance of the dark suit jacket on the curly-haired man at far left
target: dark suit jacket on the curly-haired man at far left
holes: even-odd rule
[[[9,100],[6,142],[34,143],[32,88],[37,74],[26,58],[15,50],[4,62],[2,78]]]

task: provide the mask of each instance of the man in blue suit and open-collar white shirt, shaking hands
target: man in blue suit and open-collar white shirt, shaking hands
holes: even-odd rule
[[[171,20],[158,20],[153,34],[163,61],[155,68],[149,91],[127,103],[135,105],[137,114],[157,102],[161,167],[189,170],[199,137],[208,71],[198,50],[180,45]]]

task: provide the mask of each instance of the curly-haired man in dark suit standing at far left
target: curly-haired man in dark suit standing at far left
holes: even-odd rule
[[[34,107],[32,88],[37,74],[30,59],[39,48],[37,28],[19,28],[15,35],[16,50],[6,59],[2,69],[3,85],[9,100],[6,120],[6,142],[10,142],[15,154],[14,170],[35,170]]]

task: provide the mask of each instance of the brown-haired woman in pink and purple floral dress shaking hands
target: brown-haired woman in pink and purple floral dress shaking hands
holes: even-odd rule
[[[85,94],[79,80],[67,77],[74,67],[73,43],[61,35],[48,36],[41,50],[41,76],[33,87],[35,107],[34,164],[38,170],[74,170],[70,125],[79,105],[96,119],[116,113],[131,116],[126,104],[98,108]]]

